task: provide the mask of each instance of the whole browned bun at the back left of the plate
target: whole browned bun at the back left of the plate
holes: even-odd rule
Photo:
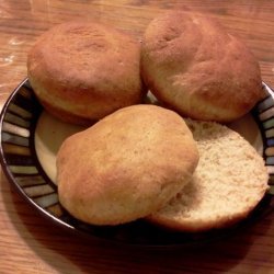
[[[82,125],[140,103],[139,43],[90,21],[68,22],[44,33],[27,56],[27,75],[44,107]]]

